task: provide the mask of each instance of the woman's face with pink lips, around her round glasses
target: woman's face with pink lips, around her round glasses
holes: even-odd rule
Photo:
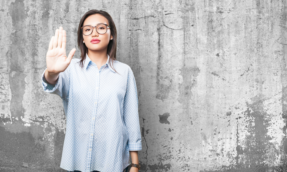
[[[85,19],[83,26],[86,25],[97,26],[98,24],[108,25],[108,20],[102,15],[94,14],[90,15]],[[113,36],[111,36],[110,34],[110,28],[109,27],[107,28],[108,30],[105,34],[98,34],[96,28],[93,28],[92,34],[88,36],[85,36],[83,34],[83,38],[88,50],[97,51],[97,50],[106,50],[108,48],[108,43],[110,42],[110,39],[113,38]],[[92,41],[93,39],[94,40],[97,39],[100,41]]]

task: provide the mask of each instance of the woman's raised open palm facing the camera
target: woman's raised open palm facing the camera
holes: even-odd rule
[[[52,36],[49,49],[46,54],[47,71],[49,73],[61,73],[69,66],[76,49],[73,48],[69,56],[66,55],[66,31],[63,27],[56,30],[55,36]]]

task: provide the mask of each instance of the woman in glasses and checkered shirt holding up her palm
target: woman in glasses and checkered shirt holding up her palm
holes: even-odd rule
[[[66,32],[52,36],[42,74],[46,92],[61,97],[67,127],[60,167],[68,171],[139,171],[138,99],[131,68],[116,60],[117,30],[105,11],[90,10],[78,28],[80,58],[66,56]]]

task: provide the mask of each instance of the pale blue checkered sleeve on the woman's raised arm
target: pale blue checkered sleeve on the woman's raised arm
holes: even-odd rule
[[[69,99],[69,88],[70,88],[70,67],[68,66],[64,72],[59,73],[59,78],[56,84],[47,83],[44,73],[42,73],[42,87],[45,92],[59,95],[63,100],[68,101]]]

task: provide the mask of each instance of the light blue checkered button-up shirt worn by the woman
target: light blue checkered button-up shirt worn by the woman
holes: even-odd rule
[[[83,68],[74,58],[55,85],[42,74],[44,91],[63,100],[65,170],[122,172],[130,164],[129,151],[141,150],[135,77],[127,64],[115,60],[116,73],[108,60],[99,70],[87,54]]]

